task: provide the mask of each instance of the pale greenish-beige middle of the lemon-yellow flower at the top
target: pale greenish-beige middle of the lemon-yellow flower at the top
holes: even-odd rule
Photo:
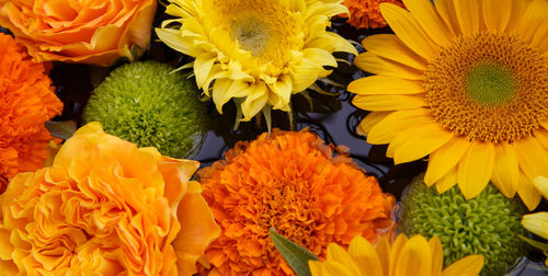
[[[251,51],[253,56],[261,56],[269,44],[271,31],[260,19],[249,18],[232,22],[231,35],[243,49]]]

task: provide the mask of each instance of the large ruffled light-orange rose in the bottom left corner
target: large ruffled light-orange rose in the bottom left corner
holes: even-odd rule
[[[219,234],[198,165],[88,124],[0,196],[2,275],[192,275]]]

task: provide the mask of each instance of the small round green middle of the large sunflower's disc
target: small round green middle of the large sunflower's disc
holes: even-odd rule
[[[511,72],[496,65],[480,65],[468,73],[465,89],[473,102],[499,105],[513,97],[514,88]]]

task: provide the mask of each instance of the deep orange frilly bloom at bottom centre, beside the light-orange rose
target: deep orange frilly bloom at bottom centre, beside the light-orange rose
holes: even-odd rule
[[[221,228],[206,250],[220,275],[293,275],[269,229],[326,256],[330,242],[376,241],[392,225],[391,195],[347,157],[309,131],[239,142],[198,172],[203,196]]]

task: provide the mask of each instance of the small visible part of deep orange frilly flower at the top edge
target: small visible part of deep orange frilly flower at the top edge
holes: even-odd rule
[[[395,3],[403,7],[401,0],[344,0],[350,10],[349,24],[356,28],[376,28],[386,26],[378,5],[381,2]],[[345,14],[342,14],[345,16]]]

